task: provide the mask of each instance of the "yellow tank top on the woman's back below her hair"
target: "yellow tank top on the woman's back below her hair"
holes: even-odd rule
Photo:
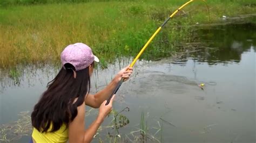
[[[51,129],[52,125],[49,128]],[[36,128],[33,128],[32,138],[37,142],[67,142],[69,139],[69,128],[63,124],[58,131],[41,133]]]

